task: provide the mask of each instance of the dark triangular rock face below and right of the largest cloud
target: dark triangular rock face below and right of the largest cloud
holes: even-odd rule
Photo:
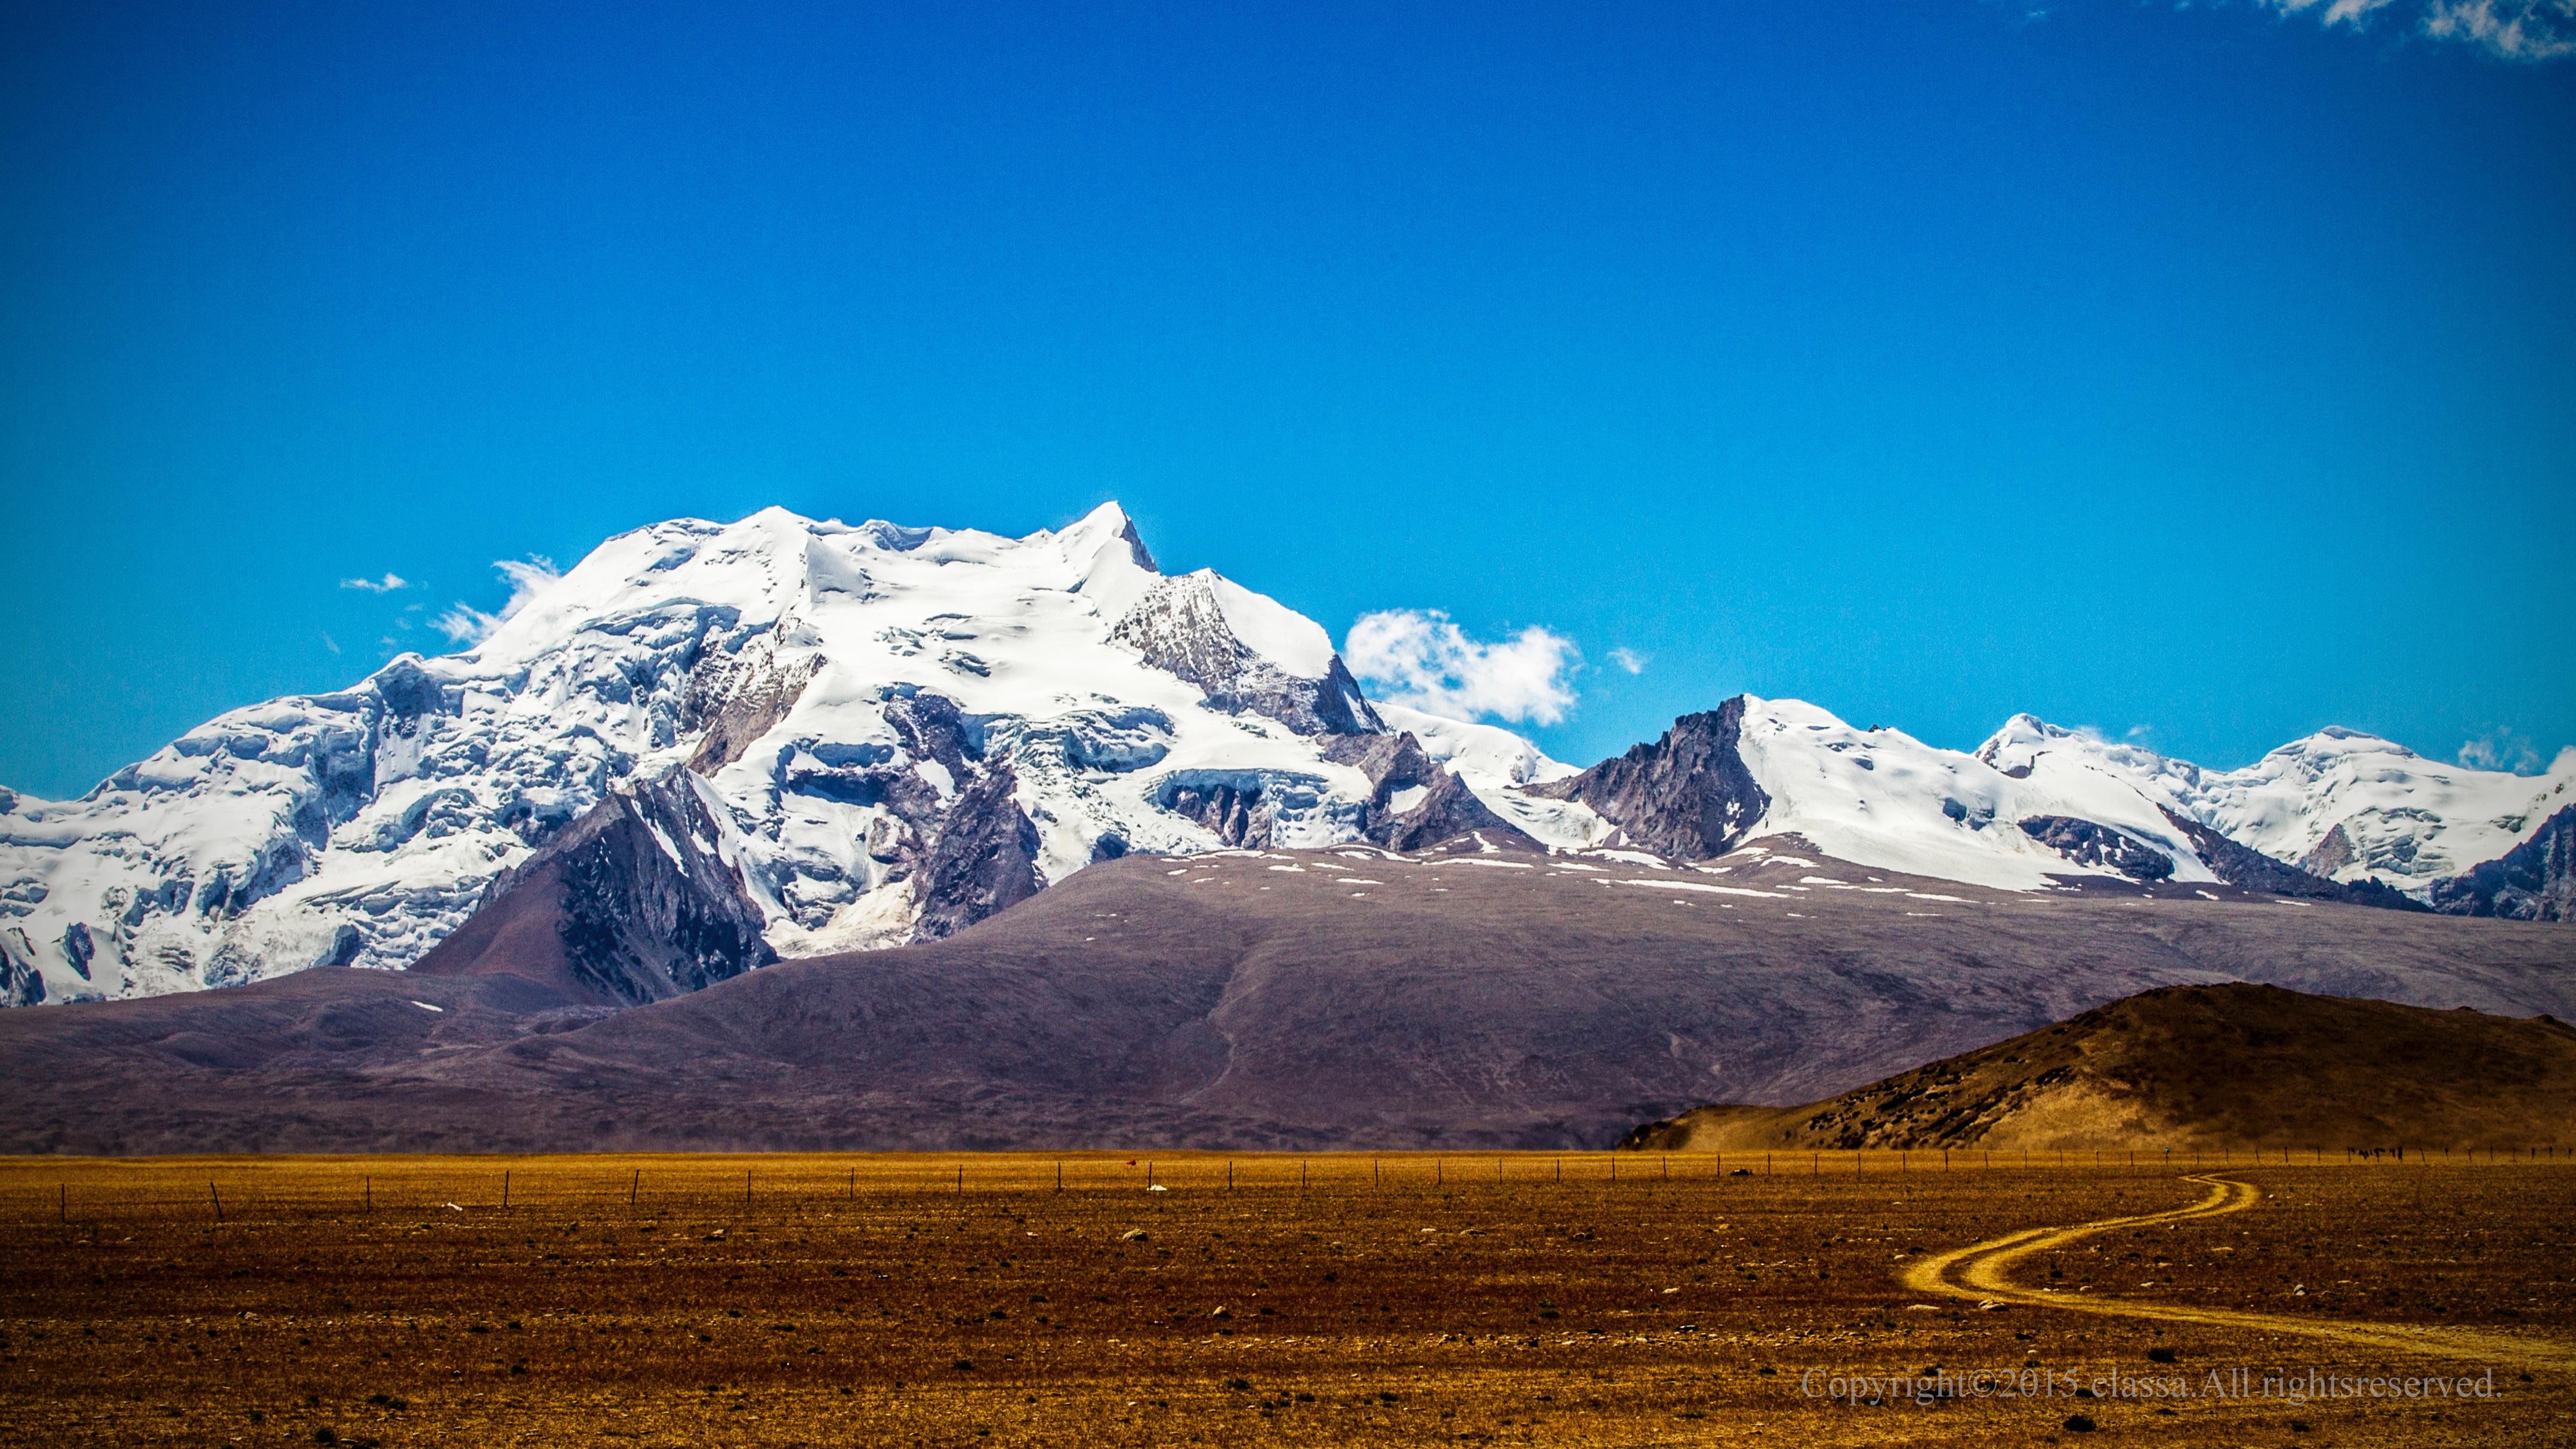
[[[1579,799],[1620,828],[1628,846],[1703,861],[1741,843],[1770,797],[1754,784],[1739,743],[1744,696],[1705,714],[1685,714],[1651,745],[1636,745],[1579,776],[1533,784],[1528,794]]]

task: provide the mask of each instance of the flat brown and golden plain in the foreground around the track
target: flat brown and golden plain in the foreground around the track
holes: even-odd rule
[[[2125,1158],[1620,1155],[1613,1181],[1602,1155],[1069,1155],[1061,1191],[1041,1155],[15,1158],[0,1439],[2568,1441],[2576,1168],[2202,1168],[2259,1204],[2105,1232],[2014,1281],[2437,1325],[2455,1338],[2427,1348],[2452,1356],[1901,1284],[1927,1253],[2205,1191],[2192,1165]],[[2061,1377],[1896,1408],[1801,1392],[1935,1366]],[[2066,1382],[2239,1366],[2491,1374],[2494,1397]]]

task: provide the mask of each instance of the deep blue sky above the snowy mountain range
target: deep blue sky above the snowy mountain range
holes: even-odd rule
[[[495,559],[1103,498],[1337,637],[1564,639],[1571,761],[1736,691],[1942,745],[2030,709],[2215,766],[2321,724],[2548,755],[2566,34],[10,5],[0,781],[438,650]]]

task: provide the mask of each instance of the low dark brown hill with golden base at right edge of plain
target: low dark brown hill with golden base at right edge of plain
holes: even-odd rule
[[[1700,1106],[1623,1147],[2540,1147],[2576,1029],[2272,985],[2174,985],[1806,1106]]]

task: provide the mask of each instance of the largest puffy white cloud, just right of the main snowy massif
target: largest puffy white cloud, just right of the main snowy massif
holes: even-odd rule
[[[1481,642],[1437,608],[1381,608],[1350,627],[1342,663],[1388,704],[1450,719],[1492,714],[1556,724],[1574,709],[1566,678],[1582,665],[1582,652],[1574,639],[1538,624]]]

